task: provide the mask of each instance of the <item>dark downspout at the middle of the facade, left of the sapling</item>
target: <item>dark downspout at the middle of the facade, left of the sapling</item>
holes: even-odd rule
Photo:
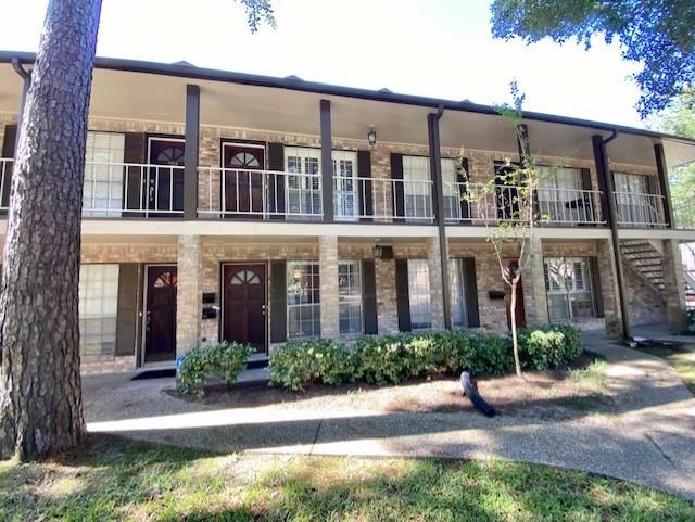
[[[451,285],[448,277],[448,249],[446,244],[446,219],[444,216],[444,187],[442,181],[442,164],[439,138],[439,122],[444,115],[444,105],[440,104],[435,113],[429,114],[430,133],[430,165],[434,179],[434,196],[437,202],[437,228],[439,232],[439,255],[442,267],[442,307],[444,311],[444,328],[452,329]]]

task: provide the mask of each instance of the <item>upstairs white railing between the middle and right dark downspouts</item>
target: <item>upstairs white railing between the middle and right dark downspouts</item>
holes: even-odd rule
[[[497,186],[485,192],[480,183],[446,183],[444,216],[450,222],[497,222],[518,216],[518,187]],[[543,225],[601,225],[601,191],[538,189],[535,214]]]

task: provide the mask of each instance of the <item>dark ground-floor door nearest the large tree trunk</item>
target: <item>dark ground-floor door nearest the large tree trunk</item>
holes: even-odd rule
[[[176,287],[175,266],[148,267],[144,310],[146,362],[176,358]]]

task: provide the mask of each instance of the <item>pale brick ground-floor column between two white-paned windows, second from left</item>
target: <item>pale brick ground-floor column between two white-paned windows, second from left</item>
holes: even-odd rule
[[[338,237],[318,238],[318,273],[320,278],[321,338],[338,339]]]

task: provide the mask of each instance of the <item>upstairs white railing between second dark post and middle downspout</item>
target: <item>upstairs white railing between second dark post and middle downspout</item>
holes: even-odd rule
[[[432,222],[431,180],[333,177],[336,219]]]

